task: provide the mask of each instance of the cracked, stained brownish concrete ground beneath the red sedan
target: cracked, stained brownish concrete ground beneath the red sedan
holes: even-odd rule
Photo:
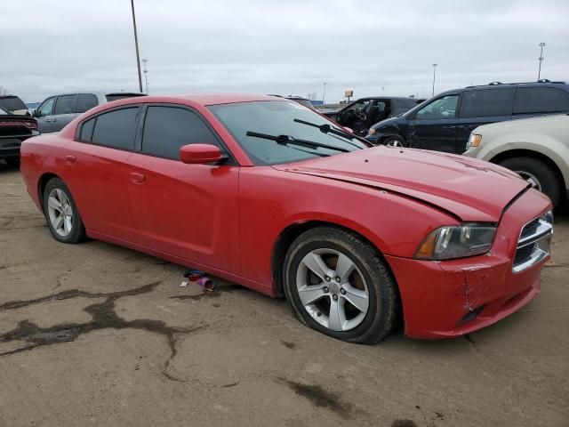
[[[569,425],[566,214],[538,298],[469,339],[334,341],[184,271],[57,243],[0,165],[0,426]]]

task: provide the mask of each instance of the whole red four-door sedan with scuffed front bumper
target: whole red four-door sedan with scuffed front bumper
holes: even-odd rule
[[[21,147],[63,243],[85,236],[272,296],[349,342],[397,319],[467,334],[540,290],[553,218],[517,174],[364,141],[293,101],[149,96],[92,109]]]

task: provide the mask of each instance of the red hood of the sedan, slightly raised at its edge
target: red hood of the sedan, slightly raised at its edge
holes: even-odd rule
[[[499,222],[506,205],[529,188],[516,173],[481,160],[386,146],[274,167],[385,189],[461,221]]]

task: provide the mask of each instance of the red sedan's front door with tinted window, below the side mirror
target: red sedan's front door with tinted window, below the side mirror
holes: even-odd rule
[[[180,147],[223,144],[196,111],[150,105],[140,152],[129,159],[129,194],[140,244],[220,270],[239,270],[239,167],[187,165]]]

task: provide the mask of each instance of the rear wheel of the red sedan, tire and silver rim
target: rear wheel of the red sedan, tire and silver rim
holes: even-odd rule
[[[50,200],[52,198],[53,200]],[[75,200],[65,182],[52,178],[44,189],[44,215],[53,238],[62,243],[79,243],[85,229]]]

